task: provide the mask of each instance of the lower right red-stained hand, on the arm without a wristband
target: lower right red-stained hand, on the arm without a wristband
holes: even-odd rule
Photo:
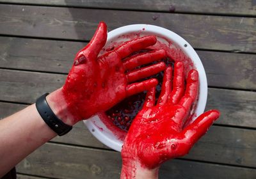
[[[186,155],[219,117],[218,111],[207,111],[184,127],[198,93],[198,72],[190,70],[186,91],[184,66],[181,62],[174,66],[173,88],[171,79],[172,67],[168,67],[164,72],[157,104],[155,105],[156,88],[151,88],[143,108],[132,121],[122,148],[121,178],[136,175],[131,174],[136,169],[127,169],[131,166],[156,171],[166,160]]]

